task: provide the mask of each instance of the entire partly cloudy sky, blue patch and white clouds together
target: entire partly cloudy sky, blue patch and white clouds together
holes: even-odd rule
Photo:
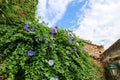
[[[105,49],[120,39],[119,0],[39,0],[37,16]]]

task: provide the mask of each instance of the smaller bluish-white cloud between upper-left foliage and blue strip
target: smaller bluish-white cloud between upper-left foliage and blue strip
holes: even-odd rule
[[[71,1],[72,0],[39,0],[37,15],[42,16],[42,20],[50,22],[50,25],[54,25],[63,17]]]

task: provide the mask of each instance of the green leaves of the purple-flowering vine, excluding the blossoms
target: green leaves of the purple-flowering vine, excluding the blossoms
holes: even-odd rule
[[[50,80],[52,77],[57,80],[96,80],[97,67],[82,51],[83,42],[75,35],[76,40],[69,43],[71,37],[64,29],[58,29],[51,36],[53,28],[38,22],[29,26],[36,29],[25,30],[23,24],[0,25],[0,76],[7,80]],[[49,45],[50,42],[53,44]],[[28,55],[29,50],[34,51],[33,56]],[[54,61],[52,66],[48,64],[49,60]]]

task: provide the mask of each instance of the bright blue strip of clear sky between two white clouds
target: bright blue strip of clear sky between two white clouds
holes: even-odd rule
[[[82,12],[80,11],[80,8],[83,7],[86,1],[87,0],[84,0],[82,2],[69,3],[67,6],[67,10],[64,13],[64,16],[56,24],[66,29],[75,30],[75,28],[79,26],[79,25],[75,25],[78,20],[77,13],[83,15]]]

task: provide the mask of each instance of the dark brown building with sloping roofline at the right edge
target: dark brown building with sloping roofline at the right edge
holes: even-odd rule
[[[103,53],[106,80],[120,80],[120,39]]]

